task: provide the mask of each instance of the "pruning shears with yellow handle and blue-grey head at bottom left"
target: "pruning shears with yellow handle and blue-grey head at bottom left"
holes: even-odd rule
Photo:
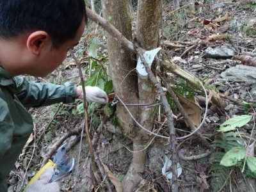
[[[66,177],[72,171],[75,167],[75,159],[72,158],[72,160],[67,163],[68,157],[63,159],[63,156],[66,154],[68,143],[64,143],[61,145],[61,147],[58,148],[58,150],[55,152],[55,154],[52,156],[52,159],[49,159],[49,161],[36,173],[36,175],[29,181],[28,185],[26,186],[26,189],[44,173],[44,171],[53,166],[54,172],[52,174],[51,180],[49,182],[54,182],[57,180],[60,180],[63,177]],[[25,191],[26,191],[25,189]]]

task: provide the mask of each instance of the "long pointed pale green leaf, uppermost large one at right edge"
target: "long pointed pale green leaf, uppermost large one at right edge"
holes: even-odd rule
[[[231,131],[236,129],[236,127],[243,127],[243,125],[250,122],[252,119],[251,115],[240,115],[230,118],[229,120],[225,121],[223,124],[220,125],[220,131]]]

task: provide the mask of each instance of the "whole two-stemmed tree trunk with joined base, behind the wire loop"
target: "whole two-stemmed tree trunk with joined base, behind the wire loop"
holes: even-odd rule
[[[128,40],[132,39],[129,0],[102,0],[102,13],[122,35]],[[138,42],[144,49],[150,50],[157,47],[160,16],[161,0],[138,1],[136,33]],[[136,68],[136,63],[132,60],[131,52],[125,51],[125,49],[120,46],[120,42],[117,42],[111,35],[108,35],[108,56],[109,63],[111,63],[115,94],[120,97],[125,104],[147,104],[156,102],[154,84],[151,83],[149,78],[141,79],[137,77],[136,72],[131,72]],[[127,76],[127,74],[129,75]],[[144,106],[129,106],[129,110],[143,127],[150,131],[152,130],[152,118],[150,118],[152,109],[145,109]],[[133,141],[134,152],[132,153],[132,163],[122,182],[123,191],[130,192],[133,191],[141,180],[138,173],[145,170],[147,154],[145,147],[147,146],[150,136],[135,124],[124,106],[117,105],[116,115],[125,136]]]

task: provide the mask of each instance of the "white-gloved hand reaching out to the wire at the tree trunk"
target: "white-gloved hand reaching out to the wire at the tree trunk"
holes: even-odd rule
[[[81,94],[77,98],[83,99],[82,86],[77,86],[77,88],[81,89]],[[97,86],[86,86],[85,93],[87,102],[99,102],[100,104],[108,103],[108,95]]]

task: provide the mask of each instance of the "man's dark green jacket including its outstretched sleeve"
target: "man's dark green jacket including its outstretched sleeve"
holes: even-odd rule
[[[24,77],[11,77],[0,65],[0,192],[7,191],[6,176],[33,131],[32,117],[24,107],[70,103],[75,99],[73,83],[33,83]]]

